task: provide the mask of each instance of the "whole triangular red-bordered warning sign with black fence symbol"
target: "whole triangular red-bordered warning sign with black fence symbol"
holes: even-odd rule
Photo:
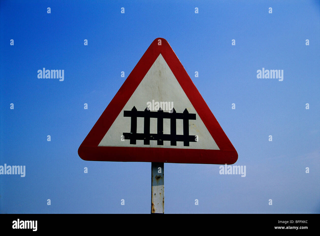
[[[155,39],[78,150],[86,161],[233,164],[238,154],[163,38]]]

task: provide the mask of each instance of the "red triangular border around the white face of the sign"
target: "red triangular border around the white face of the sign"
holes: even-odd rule
[[[158,45],[159,39],[161,39],[162,45]],[[220,150],[98,146],[160,53]],[[111,100],[110,104],[80,145],[78,154],[86,161],[233,164],[238,159],[236,149],[231,144],[180,60],[164,38],[156,38],[148,47],[138,64],[134,67],[115,97]]]

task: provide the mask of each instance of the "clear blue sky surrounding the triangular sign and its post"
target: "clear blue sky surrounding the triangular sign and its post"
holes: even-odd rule
[[[1,213],[150,213],[150,162],[77,150],[157,37],[246,166],[165,163],[165,213],[320,212],[319,1],[1,1],[0,22],[0,165],[26,166],[0,175]],[[64,81],[38,79],[43,67]],[[284,80],[258,79],[263,67]]]

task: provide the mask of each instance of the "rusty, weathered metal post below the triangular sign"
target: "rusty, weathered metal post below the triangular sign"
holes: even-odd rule
[[[151,213],[164,213],[163,167],[163,162],[151,162]]]

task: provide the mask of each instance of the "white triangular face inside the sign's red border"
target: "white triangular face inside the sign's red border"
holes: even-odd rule
[[[133,107],[138,113],[131,113],[132,109],[134,109]],[[148,111],[145,111],[147,107]],[[158,118],[159,113],[162,113],[158,112],[160,107],[163,110],[163,114],[165,114],[162,119]],[[177,113],[176,116],[174,112],[170,113],[172,108]],[[190,116],[187,115],[190,117],[187,121],[182,119],[185,109],[190,114]],[[146,116],[149,117],[145,118]],[[172,123],[173,116],[176,118],[174,119],[175,122],[173,121]],[[145,130],[145,122],[149,124],[147,125],[149,127],[147,132]],[[185,125],[184,122],[186,122]],[[175,134],[173,131],[174,123],[176,126]],[[133,134],[131,133],[132,125],[136,125],[136,133],[133,132]],[[160,128],[163,128],[160,142],[156,136],[159,125]],[[186,128],[188,128],[188,140],[184,136],[186,135],[184,133]],[[141,138],[145,137],[146,133],[150,137],[148,141],[145,138]],[[193,137],[191,138],[191,136]],[[175,141],[172,141],[173,139]],[[133,92],[98,146],[220,150],[161,54]]]

